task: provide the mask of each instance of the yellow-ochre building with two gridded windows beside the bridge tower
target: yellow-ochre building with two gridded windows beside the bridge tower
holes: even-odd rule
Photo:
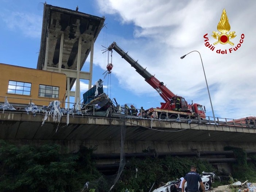
[[[58,100],[64,107],[67,77],[62,73],[0,63],[0,103],[48,106]],[[23,105],[24,106],[24,105]]]

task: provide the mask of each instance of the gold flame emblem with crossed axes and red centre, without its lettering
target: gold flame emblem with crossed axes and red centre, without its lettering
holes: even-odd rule
[[[233,39],[234,37],[236,37],[235,32],[234,31],[230,31],[230,24],[228,22],[228,16],[226,15],[226,11],[225,9],[223,9],[222,15],[221,15],[221,19],[220,22],[217,25],[217,30],[221,32],[221,34],[219,34],[218,32],[213,31],[213,35],[212,37],[214,39],[218,39],[217,42],[213,43],[214,45],[221,43],[221,44],[227,44],[229,43],[230,45],[234,45],[234,43],[230,42],[230,39]],[[227,34],[227,32],[229,32],[229,34]]]

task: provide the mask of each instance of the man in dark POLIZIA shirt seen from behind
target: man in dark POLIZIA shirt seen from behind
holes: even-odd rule
[[[182,192],[184,192],[184,185],[186,182],[187,192],[198,192],[198,182],[200,183],[202,191],[205,192],[205,186],[203,185],[200,175],[195,172],[196,170],[197,168],[194,165],[190,167],[190,172],[185,175],[182,181]]]

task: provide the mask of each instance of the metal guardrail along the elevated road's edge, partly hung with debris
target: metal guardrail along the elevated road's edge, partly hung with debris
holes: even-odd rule
[[[5,99],[24,99],[24,100],[28,100],[29,103],[28,105],[30,105],[31,103],[33,103],[33,101],[43,101],[40,99],[27,99],[27,98],[19,98],[19,97],[7,97],[7,96],[0,96],[0,98],[5,98]],[[73,105],[74,108],[76,108],[78,105],[79,106],[85,106],[83,103],[72,103],[72,102],[63,102],[63,101],[59,101],[60,103],[63,103],[64,106],[66,106],[67,103],[70,103]],[[0,105],[3,102],[0,102]],[[4,104],[4,103],[3,103]],[[13,105],[13,107],[15,108],[20,108],[20,109],[24,109],[25,107],[27,107],[28,105],[26,104],[20,104],[20,103],[10,103],[11,105]],[[152,119],[150,116],[147,115],[147,113],[140,113],[140,116],[135,116],[135,115],[128,115],[125,114],[123,110],[117,110],[113,107],[109,107],[108,110],[106,111],[96,111],[95,110],[95,105],[86,105],[86,106],[91,106],[93,108],[92,111],[90,112],[86,112],[81,110],[81,112],[85,115],[93,115],[93,116],[106,116],[106,117],[127,117],[127,118],[140,118],[140,119]],[[137,109],[138,111],[140,111],[140,109]],[[138,113],[139,114],[139,113]],[[240,120],[240,122],[236,122],[237,119],[230,119],[230,118],[220,118],[217,117],[217,121],[216,124],[214,122],[213,117],[207,116],[206,119],[193,119],[193,118],[181,118],[178,114],[178,118],[179,118],[179,122],[183,122],[183,123],[188,123],[189,120],[191,121],[190,123],[197,123],[197,124],[209,124],[209,125],[217,125],[217,126],[235,126],[235,127],[242,127],[242,128],[256,128],[256,122],[253,122],[253,125],[250,124],[245,124],[243,123],[242,120]],[[176,122],[177,119],[158,119],[161,121],[171,121],[171,122]]]

